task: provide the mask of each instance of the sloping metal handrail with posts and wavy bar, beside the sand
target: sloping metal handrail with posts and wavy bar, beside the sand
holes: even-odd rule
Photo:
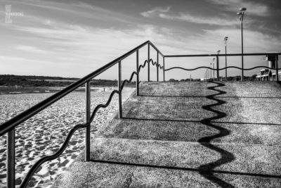
[[[143,48],[143,46],[148,45],[148,60],[145,60],[143,65],[138,65],[139,57],[138,57],[138,50]],[[155,51],[157,51],[157,61],[153,61],[152,58],[150,58],[150,46],[152,46]],[[131,54],[136,52],[136,71],[131,73],[131,77],[129,80],[124,80],[122,82],[122,63],[121,61],[126,58],[127,56],[130,56]],[[163,66],[159,65],[159,54],[163,57]],[[91,113],[91,101],[90,101],[90,81],[94,77],[100,75],[100,73],[103,73],[108,68],[111,68],[113,65],[116,65],[118,63],[118,90],[114,90],[111,92],[109,99],[105,104],[99,104],[94,108],[93,112]],[[78,124],[72,127],[72,130],[67,134],[67,137],[65,141],[63,142],[62,146],[60,146],[60,149],[56,151],[51,156],[45,156],[37,163],[35,163],[32,168],[30,168],[29,172],[25,176],[24,180],[20,184],[20,187],[27,187],[28,182],[30,181],[32,175],[36,172],[36,170],[39,168],[40,165],[45,163],[46,161],[51,161],[55,158],[58,158],[63,151],[65,151],[67,144],[70,142],[70,139],[75,131],[86,128],[86,144],[85,144],[85,161],[89,161],[90,156],[90,126],[93,122],[93,119],[95,118],[95,115],[97,111],[100,108],[106,108],[110,102],[112,101],[112,98],[115,94],[119,94],[119,118],[122,118],[122,90],[124,88],[124,85],[126,83],[129,83],[133,80],[133,75],[136,75],[136,94],[139,94],[139,73],[141,72],[141,68],[145,68],[145,65],[148,63],[148,81],[150,81],[150,63],[152,65],[156,65],[157,67],[157,81],[159,80],[159,68],[163,69],[163,77],[164,77],[164,55],[156,48],[152,42],[147,41],[143,44],[137,46],[135,49],[132,49],[131,51],[127,52],[123,56],[120,56],[119,58],[115,59],[114,61],[107,63],[107,65],[104,65],[103,67],[99,68],[98,70],[94,71],[93,73],[86,75],[86,77],[81,78],[77,82],[74,82],[69,87],[66,87],[65,89],[61,90],[60,92],[53,94],[52,96],[48,97],[44,101],[41,101],[39,104],[32,106],[32,108],[27,109],[27,111],[24,111],[20,113],[19,115],[16,115],[14,118],[11,118],[11,120],[6,121],[2,125],[0,125],[0,136],[3,136],[4,134],[8,133],[7,137],[7,187],[15,187],[15,127],[20,125],[20,123],[23,123],[25,120],[31,118],[32,116],[36,115],[40,111],[42,111],[44,108],[47,108],[48,106],[51,106],[51,104],[55,103],[55,101],[58,101],[59,99],[62,99],[64,96],[69,94],[70,92],[74,91],[74,89],[77,89],[82,84],[86,84],[86,123]]]

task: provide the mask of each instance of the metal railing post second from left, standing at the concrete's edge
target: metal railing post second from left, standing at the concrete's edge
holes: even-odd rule
[[[86,92],[86,123],[88,124],[86,127],[86,137],[85,137],[85,161],[90,161],[90,143],[91,143],[91,126],[90,126],[90,118],[91,118],[91,84],[90,81],[85,84],[85,92]]]

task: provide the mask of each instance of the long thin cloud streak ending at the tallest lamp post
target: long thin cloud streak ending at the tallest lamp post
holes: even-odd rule
[[[166,15],[164,13],[159,14],[160,18],[169,19],[169,20],[183,20],[190,23],[199,23],[207,25],[237,25],[239,22],[237,20],[228,20],[223,18],[216,17],[198,17],[190,15],[188,13],[180,13],[179,15]]]

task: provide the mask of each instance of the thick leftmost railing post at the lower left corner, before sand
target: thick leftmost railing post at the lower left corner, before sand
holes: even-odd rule
[[[7,187],[15,187],[15,129],[7,136]]]

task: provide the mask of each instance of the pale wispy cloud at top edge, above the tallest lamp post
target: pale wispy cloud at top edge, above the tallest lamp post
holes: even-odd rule
[[[238,11],[239,8],[246,7],[246,13],[251,15],[267,16],[270,11],[268,6],[264,4],[254,3],[244,0],[211,0],[212,3],[226,6],[228,11]]]

